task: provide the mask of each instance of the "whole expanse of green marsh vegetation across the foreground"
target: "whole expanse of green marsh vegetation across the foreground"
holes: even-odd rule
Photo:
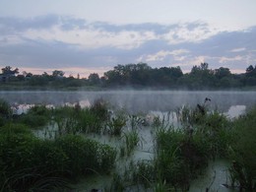
[[[147,120],[109,109],[99,99],[86,108],[35,105],[26,114],[13,115],[11,106],[0,100],[1,191],[70,190],[72,183],[92,174],[111,176],[105,191],[187,191],[216,158],[231,162],[226,186],[256,189],[256,107],[230,120],[204,105],[184,106],[175,111],[179,127],[168,118]],[[140,129],[153,135],[152,160],[129,159],[140,145]],[[117,139],[119,145],[100,144],[92,133]]]

